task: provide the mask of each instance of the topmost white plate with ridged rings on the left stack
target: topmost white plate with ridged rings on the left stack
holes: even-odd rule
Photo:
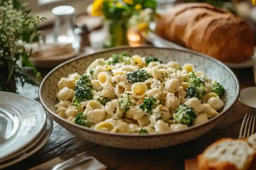
[[[25,96],[0,91],[0,160],[25,148],[42,132],[46,114]]]

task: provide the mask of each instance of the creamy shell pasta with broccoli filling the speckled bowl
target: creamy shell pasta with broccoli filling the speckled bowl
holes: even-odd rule
[[[189,63],[113,54],[58,82],[57,114],[112,133],[166,133],[219,115],[225,90]]]

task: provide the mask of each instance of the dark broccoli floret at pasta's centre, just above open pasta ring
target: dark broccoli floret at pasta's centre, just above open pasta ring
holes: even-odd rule
[[[133,70],[126,75],[126,78],[132,83],[145,82],[151,78],[151,75],[146,70]]]

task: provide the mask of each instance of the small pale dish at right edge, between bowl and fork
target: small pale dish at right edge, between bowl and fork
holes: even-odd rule
[[[239,101],[249,106],[253,109],[256,109],[256,86],[247,87],[241,90]]]

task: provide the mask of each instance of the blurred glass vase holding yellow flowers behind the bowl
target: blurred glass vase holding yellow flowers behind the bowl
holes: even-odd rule
[[[104,48],[128,46],[129,42],[127,39],[127,25],[128,19],[126,20],[108,20],[105,22],[107,30],[107,37],[104,41]]]

